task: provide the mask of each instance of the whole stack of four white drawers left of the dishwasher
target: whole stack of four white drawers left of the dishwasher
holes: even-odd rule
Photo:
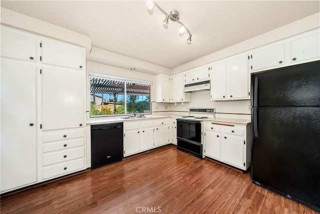
[[[42,132],[42,179],[85,169],[84,128]]]

